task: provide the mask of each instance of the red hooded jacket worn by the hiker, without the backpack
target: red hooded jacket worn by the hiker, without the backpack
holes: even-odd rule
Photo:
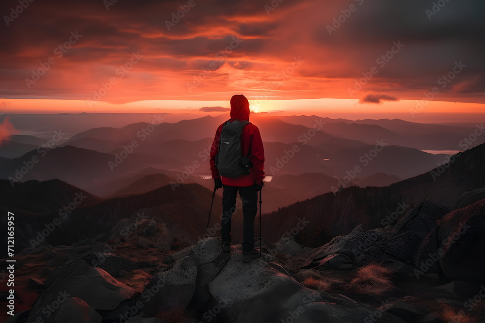
[[[235,95],[231,99],[231,119],[234,120],[247,120],[249,121],[249,103],[243,95]],[[246,156],[249,151],[249,144],[251,135],[253,135],[253,141],[251,143],[251,154],[249,154],[249,160],[253,163],[251,173],[249,175],[241,175],[235,178],[229,178],[219,175],[219,170],[215,166],[215,155],[219,153],[219,138],[221,137],[221,131],[225,123],[221,124],[215,133],[214,141],[212,142],[212,148],[210,149],[210,170],[212,172],[213,179],[221,179],[222,184],[230,186],[251,186],[255,183],[260,184],[264,178],[264,150],[263,141],[259,134],[259,129],[252,123],[247,124],[242,128],[241,134],[241,152]]]

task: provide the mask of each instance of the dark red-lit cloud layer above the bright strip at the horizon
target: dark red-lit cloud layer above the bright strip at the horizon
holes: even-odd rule
[[[431,0],[284,1],[268,15],[264,5],[271,1],[195,0],[183,17],[173,18],[180,6],[187,8],[187,2],[118,0],[108,7],[102,0],[29,2],[8,26],[2,22],[0,93],[16,97],[92,93],[138,51],[143,61],[126,80],[149,80],[157,95],[160,88],[174,95],[167,84],[183,89],[214,61],[212,74],[198,89],[209,87],[210,77],[217,80],[215,71],[226,62],[238,63],[247,72],[241,77],[253,73],[257,78],[244,79],[243,84],[265,88],[265,82],[272,82],[298,56],[305,63],[291,75],[299,79],[291,87],[320,97],[349,98],[348,84],[377,66],[378,73],[363,91],[406,92],[400,98],[416,92],[420,98],[459,61],[467,67],[442,92],[459,98],[466,93],[483,96],[485,91],[484,1],[448,1],[436,15],[426,12],[436,2]],[[356,11],[329,35],[328,26],[351,4]],[[17,5],[17,0],[3,1],[0,15],[10,15]],[[167,21],[174,26],[168,28]],[[83,35],[79,43],[52,66],[42,83],[28,90],[24,79],[72,31]],[[231,48],[234,37],[242,41]],[[399,41],[403,49],[379,66],[376,59]],[[220,86],[217,83],[213,91],[231,90]],[[151,93],[144,92],[147,98]]]

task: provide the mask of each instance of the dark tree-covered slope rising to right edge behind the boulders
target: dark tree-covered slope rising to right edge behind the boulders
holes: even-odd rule
[[[336,195],[327,193],[299,201],[265,216],[266,223],[272,223],[273,228],[268,239],[278,239],[281,232],[291,230],[302,216],[310,221],[304,232],[326,227],[339,235],[350,232],[360,223],[373,228],[384,226],[388,222],[386,215],[399,211],[403,205],[407,210],[421,200],[429,199],[444,210],[453,210],[465,190],[485,187],[484,161],[485,144],[482,144],[454,155],[444,166],[387,187],[352,186]],[[404,213],[396,215],[401,217]]]

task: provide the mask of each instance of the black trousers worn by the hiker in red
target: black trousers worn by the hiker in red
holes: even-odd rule
[[[231,219],[236,211],[236,196],[242,201],[242,215],[244,222],[242,226],[242,250],[251,251],[254,248],[254,217],[258,211],[258,191],[252,186],[229,186],[223,185],[222,193],[222,225],[221,234],[223,241],[231,241]]]

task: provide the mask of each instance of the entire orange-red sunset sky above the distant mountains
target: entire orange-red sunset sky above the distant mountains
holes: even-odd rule
[[[259,112],[421,121],[485,112],[480,0],[19,6],[0,6],[2,112],[198,110],[228,107],[236,93]]]

